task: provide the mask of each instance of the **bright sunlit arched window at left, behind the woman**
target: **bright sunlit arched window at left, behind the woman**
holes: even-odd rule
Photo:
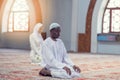
[[[9,14],[7,31],[29,31],[29,7],[26,0],[14,1]]]

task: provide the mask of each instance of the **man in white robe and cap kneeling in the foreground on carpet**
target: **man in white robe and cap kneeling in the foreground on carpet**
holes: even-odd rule
[[[60,25],[52,23],[50,25],[50,37],[44,41],[43,59],[46,63],[44,70],[40,74],[46,75],[46,71],[50,71],[52,77],[57,78],[74,78],[80,77],[80,69],[73,64],[69,58],[64,43],[60,36]],[[46,70],[46,71],[45,71]]]

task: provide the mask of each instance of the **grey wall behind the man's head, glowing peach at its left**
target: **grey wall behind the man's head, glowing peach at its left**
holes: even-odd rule
[[[53,22],[59,23],[62,29],[60,38],[69,51],[71,46],[72,0],[40,0],[40,3],[47,36],[49,36],[49,25]]]

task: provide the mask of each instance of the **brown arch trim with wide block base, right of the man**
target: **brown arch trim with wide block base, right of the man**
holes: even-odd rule
[[[91,0],[86,18],[85,34],[78,34],[78,52],[90,52],[91,49],[91,23],[96,0]]]

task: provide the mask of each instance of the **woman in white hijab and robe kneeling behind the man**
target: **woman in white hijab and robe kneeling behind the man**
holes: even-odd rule
[[[41,55],[42,43],[43,43],[43,38],[41,36],[42,30],[43,30],[42,24],[37,23],[34,27],[33,33],[29,37],[30,46],[31,46],[30,58],[31,58],[31,62],[35,64],[41,64],[42,61],[42,55]]]

